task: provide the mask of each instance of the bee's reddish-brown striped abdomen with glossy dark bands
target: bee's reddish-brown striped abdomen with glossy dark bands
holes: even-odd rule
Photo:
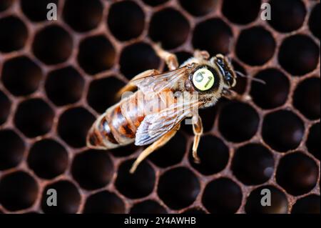
[[[159,96],[144,98],[137,91],[128,99],[111,106],[99,117],[88,132],[87,146],[94,149],[112,149],[135,141],[136,131],[146,116],[146,106],[160,102]]]

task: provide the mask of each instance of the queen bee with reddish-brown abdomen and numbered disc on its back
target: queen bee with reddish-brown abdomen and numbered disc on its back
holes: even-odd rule
[[[195,51],[192,58],[179,66],[174,54],[161,46],[153,47],[170,71],[161,74],[151,69],[131,79],[119,94],[138,88],[137,91],[108,108],[93,124],[87,137],[87,146],[93,149],[151,144],[133,163],[131,173],[143,159],[175,135],[185,118],[193,119],[193,158],[200,162],[197,149],[203,126],[198,109],[215,105],[222,96],[229,99],[237,96],[231,90],[236,84],[236,73],[230,60],[222,54],[210,58],[207,51]],[[185,94],[183,101],[180,99],[183,95],[174,95],[177,92]],[[156,108],[151,110],[151,106]]]

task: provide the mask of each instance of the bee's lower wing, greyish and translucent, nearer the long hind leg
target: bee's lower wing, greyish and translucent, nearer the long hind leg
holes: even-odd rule
[[[180,124],[183,119],[193,114],[199,104],[196,99],[184,104],[176,103],[158,113],[147,115],[137,129],[135,144],[143,146],[155,142]]]

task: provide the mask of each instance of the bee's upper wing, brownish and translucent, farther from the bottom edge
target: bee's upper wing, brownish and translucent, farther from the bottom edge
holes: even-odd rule
[[[151,76],[143,76],[139,79],[133,79],[131,82],[138,86],[144,94],[159,93],[173,89],[177,82],[184,76],[188,76],[189,71],[187,66],[183,66],[173,71],[168,71],[163,74]]]

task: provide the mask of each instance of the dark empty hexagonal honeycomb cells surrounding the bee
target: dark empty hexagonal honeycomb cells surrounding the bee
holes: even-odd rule
[[[180,62],[230,56],[252,100],[200,111],[201,164],[183,126],[131,175],[142,148],[95,151],[86,133],[129,79],[167,70],[158,42]],[[0,212],[320,213],[320,1],[1,0]]]

